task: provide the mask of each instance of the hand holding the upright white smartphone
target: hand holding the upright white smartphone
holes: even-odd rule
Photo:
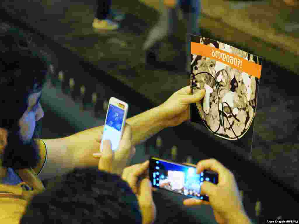
[[[101,142],[101,138],[97,139],[97,142]],[[99,170],[121,175],[135,153],[136,148],[132,145],[132,128],[126,124],[117,150],[113,152],[110,141],[105,140],[103,141],[103,152],[95,153],[93,157],[100,158]]]

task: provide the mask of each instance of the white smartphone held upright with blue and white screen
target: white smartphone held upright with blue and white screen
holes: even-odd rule
[[[103,141],[110,140],[111,149],[115,151],[118,148],[123,129],[125,128],[129,105],[115,97],[109,99],[104,131],[100,145],[100,151],[103,151]]]

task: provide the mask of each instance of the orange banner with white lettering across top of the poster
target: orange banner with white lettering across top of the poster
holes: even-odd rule
[[[209,45],[191,42],[191,54],[213,58],[233,68],[242,70],[248,75],[255,76],[259,79],[261,77],[261,65],[255,64],[254,62],[249,62],[235,54],[228,53],[224,50],[220,50]]]

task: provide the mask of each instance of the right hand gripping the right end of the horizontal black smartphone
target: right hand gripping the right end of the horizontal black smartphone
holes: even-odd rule
[[[190,164],[188,164],[190,165]],[[209,202],[190,198],[184,200],[184,205],[211,205],[215,220],[219,224],[237,223],[239,219],[247,217],[239,194],[234,174],[225,168],[216,159],[205,159],[197,163],[197,174],[204,170],[212,170],[218,173],[218,184],[204,181],[200,194],[207,194]]]

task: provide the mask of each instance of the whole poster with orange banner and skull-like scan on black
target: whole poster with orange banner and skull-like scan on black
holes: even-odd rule
[[[191,122],[251,153],[262,59],[230,45],[191,35]]]

